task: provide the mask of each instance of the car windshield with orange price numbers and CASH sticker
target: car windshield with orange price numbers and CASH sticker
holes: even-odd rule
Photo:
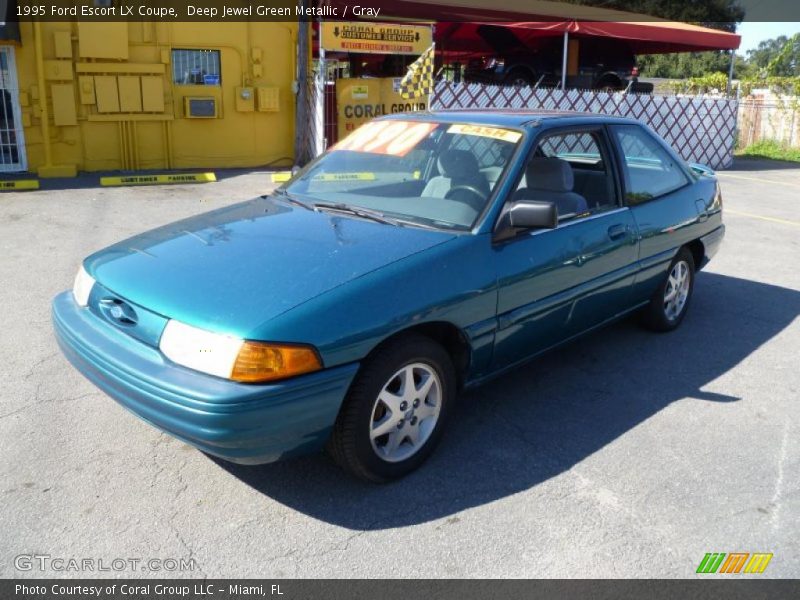
[[[372,121],[281,191],[317,210],[467,230],[486,207],[521,139],[522,132],[502,127]]]

